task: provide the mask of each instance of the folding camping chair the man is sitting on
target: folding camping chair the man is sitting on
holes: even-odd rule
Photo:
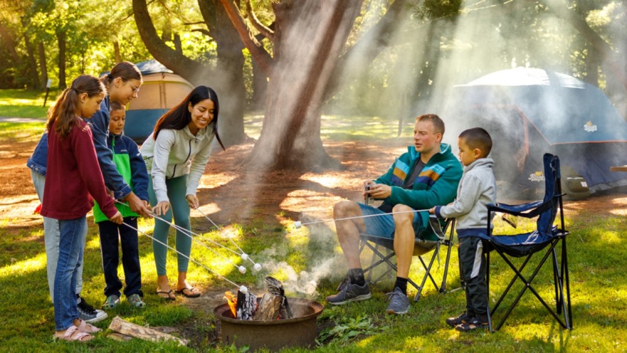
[[[420,263],[422,264],[425,274],[423,280],[420,285],[417,285],[416,282],[408,278],[408,283],[414,286],[418,293],[414,297],[414,301],[418,301],[420,298],[420,293],[423,291],[424,284],[426,283],[427,278],[431,280],[433,286],[435,286],[436,290],[440,293],[446,293],[446,276],[448,274],[448,263],[451,258],[451,247],[453,246],[453,232],[455,229],[455,219],[446,219],[444,227],[442,227],[441,222],[435,215],[429,215],[429,225],[433,232],[438,236],[438,240],[429,241],[420,239],[416,237],[416,241],[414,242],[414,256],[418,256]],[[448,239],[445,234],[448,231]],[[370,234],[359,234],[361,237],[361,247],[359,249],[360,253],[368,247],[372,250],[372,259],[371,264],[367,268],[364,268],[364,274],[366,274],[366,280],[371,283],[377,283],[381,281],[382,278],[388,277],[391,278],[393,271],[396,273],[398,269],[396,268],[396,263],[392,261],[394,254],[394,239],[384,238],[384,237],[376,237],[371,236]],[[444,264],[444,278],[442,279],[442,284],[438,286],[435,279],[431,275],[431,268],[433,267],[433,263],[435,259],[438,259],[438,263],[440,262],[440,246],[444,245],[447,247],[446,250],[446,261]],[[382,247],[379,250],[379,246]],[[382,252],[383,251],[383,252]],[[423,259],[423,255],[432,252],[431,259],[429,259],[429,264],[427,265]],[[386,263],[387,269],[386,271],[378,276],[376,280],[372,280],[372,272],[374,268],[379,266],[379,264]],[[459,289],[459,288],[458,288]]]

